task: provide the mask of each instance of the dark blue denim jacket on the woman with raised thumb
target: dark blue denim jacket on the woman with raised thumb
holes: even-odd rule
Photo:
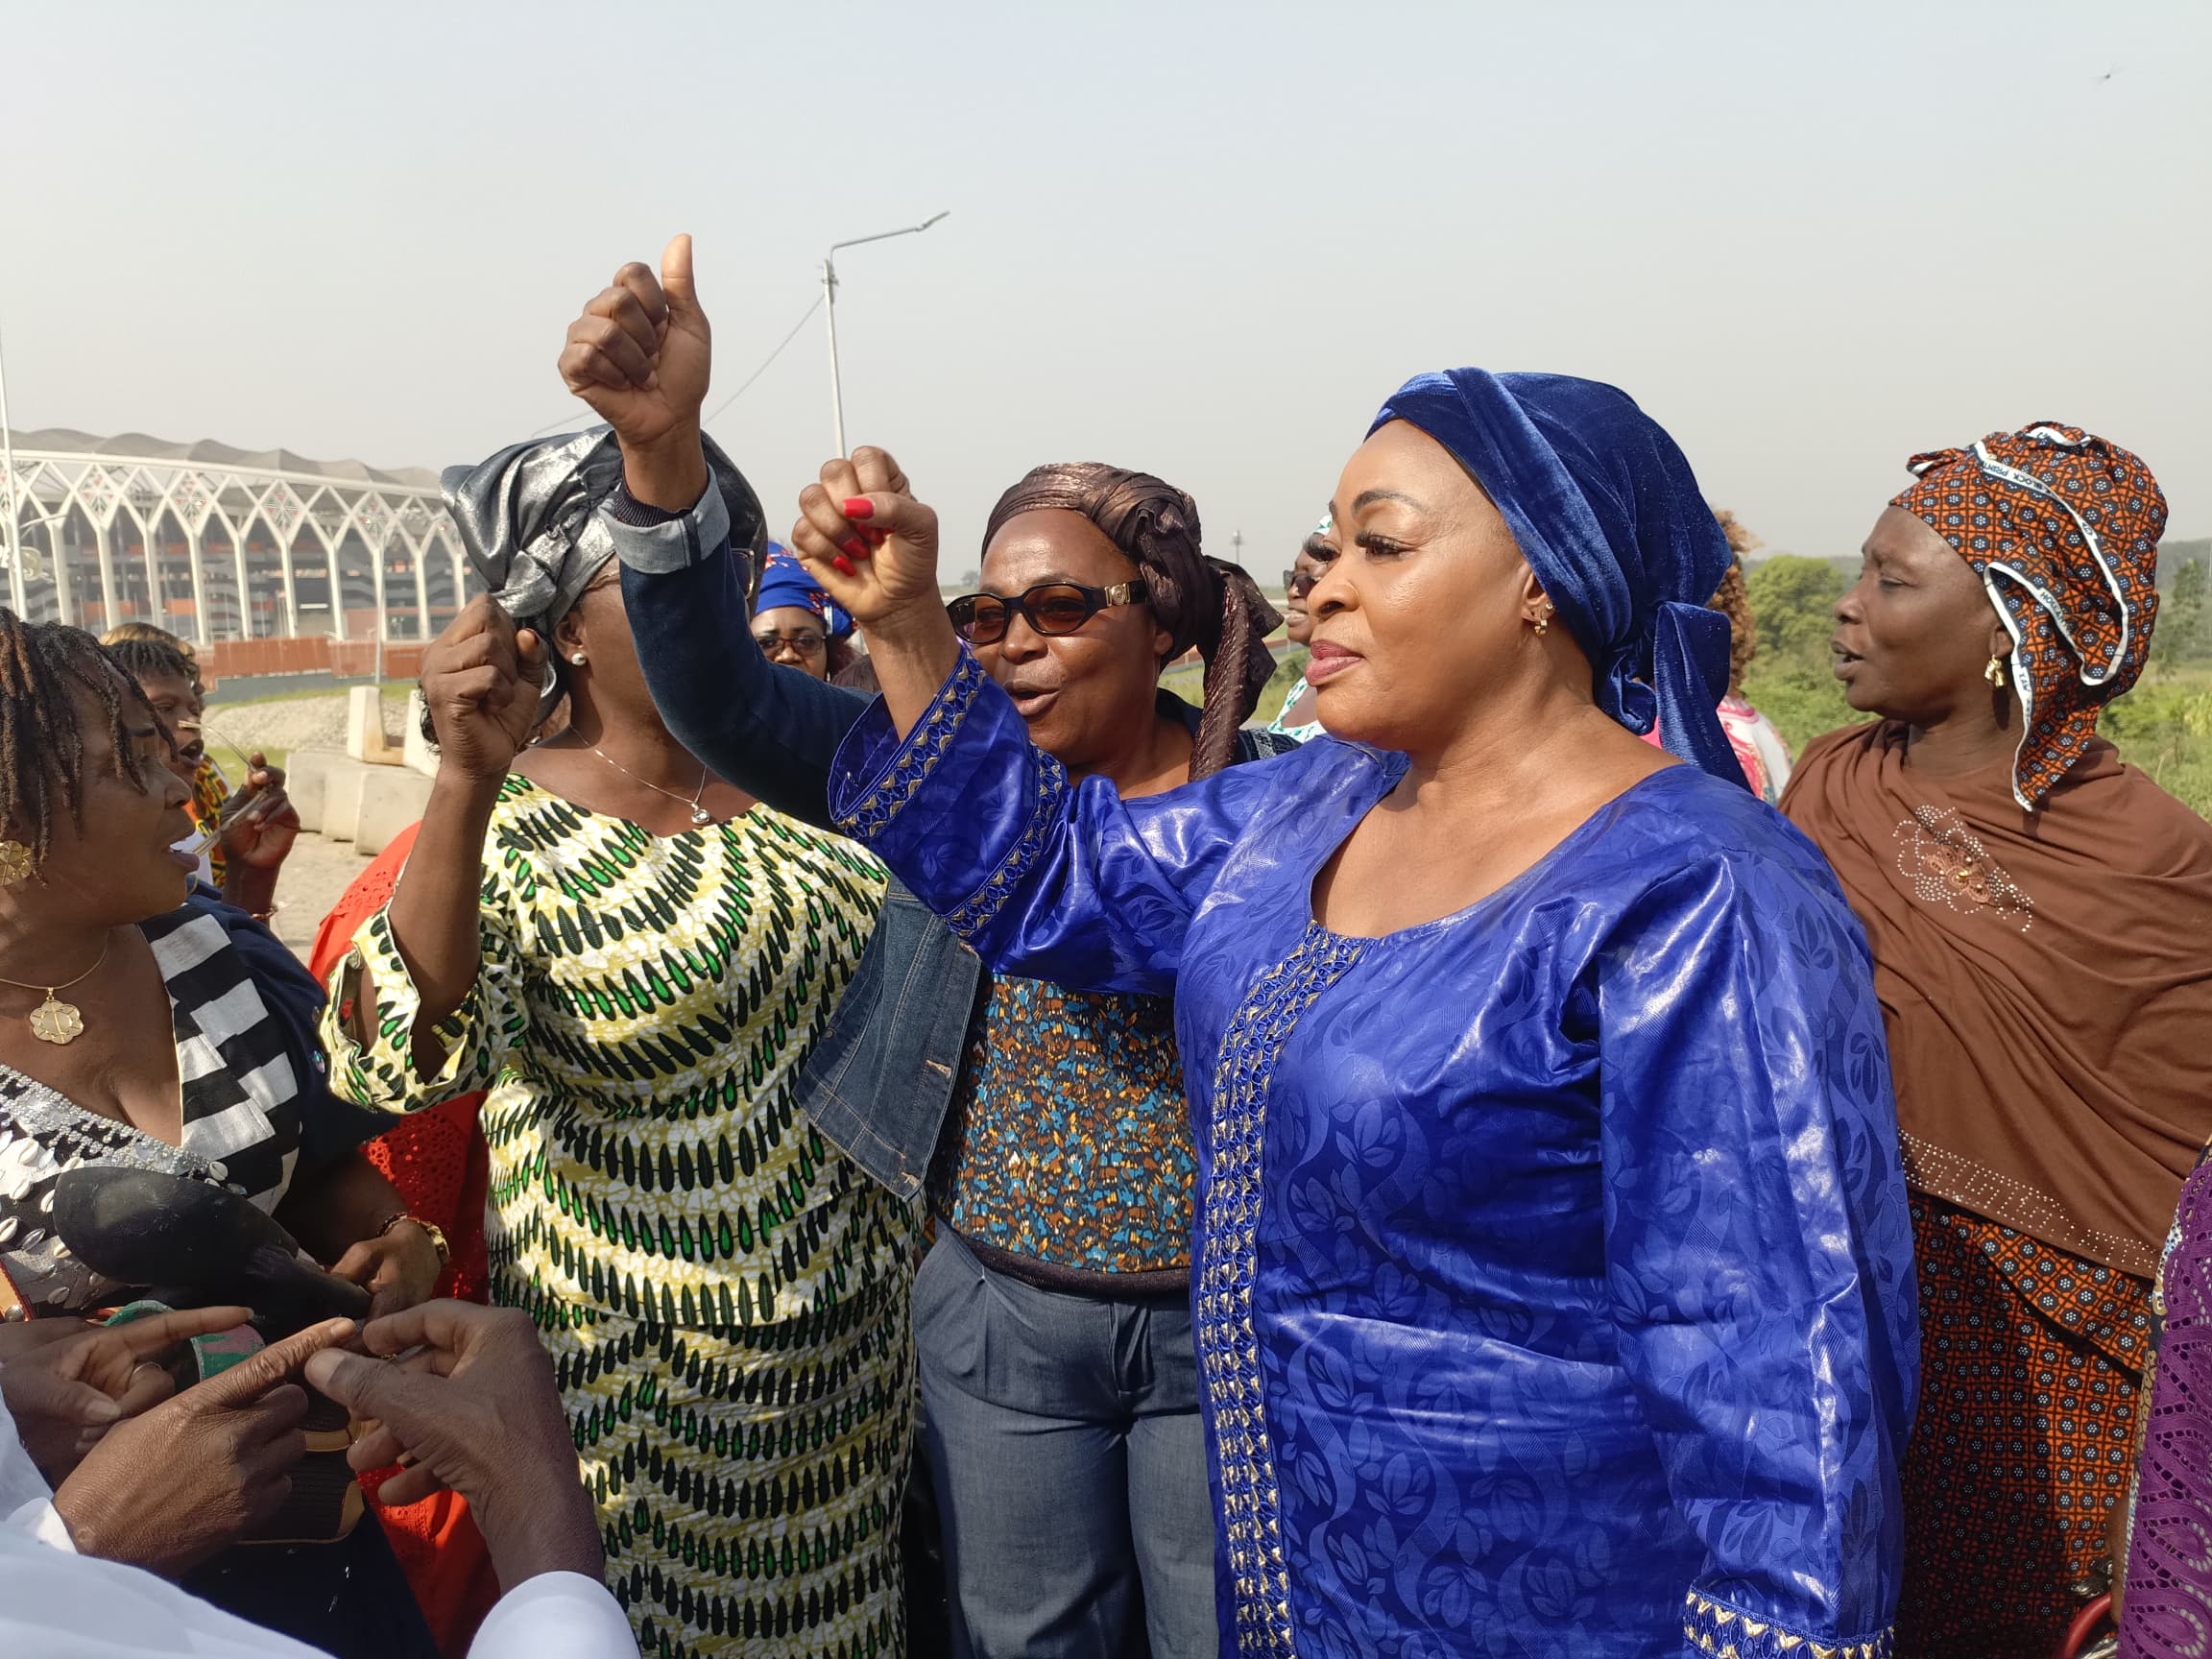
[[[779,668],[752,641],[750,568],[730,551],[719,491],[664,515],[622,493],[602,509],[622,557],[622,597],[653,701],[717,776],[823,830],[830,761],[872,697]],[[639,522],[653,520],[653,522]],[[739,526],[750,540],[752,526]],[[1161,708],[1197,730],[1170,692]],[[1292,748],[1239,732],[1237,759]],[[975,953],[896,880],[830,1029],[799,1077],[799,1106],[854,1164],[914,1199],[951,1110],[969,1022],[984,991]]]

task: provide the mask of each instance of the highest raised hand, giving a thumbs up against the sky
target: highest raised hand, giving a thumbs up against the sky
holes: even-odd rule
[[[677,237],[661,252],[659,276],[635,261],[624,265],[568,325],[560,378],[615,429],[624,453],[684,438],[697,447],[712,341],[692,285],[690,237]]]

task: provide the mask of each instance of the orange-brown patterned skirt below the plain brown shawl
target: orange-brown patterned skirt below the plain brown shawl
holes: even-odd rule
[[[2150,1283],[1911,1194],[1920,1416],[1898,1657],[2044,1659],[2110,1582]]]

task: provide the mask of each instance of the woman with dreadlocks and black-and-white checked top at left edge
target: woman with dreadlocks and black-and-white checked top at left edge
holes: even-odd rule
[[[146,1290],[55,1234],[55,1186],[73,1168],[226,1188],[363,1283],[376,1312],[422,1301],[440,1270],[436,1237],[356,1150],[374,1119],[323,1086],[314,982],[192,880],[173,754],[88,633],[0,611],[0,1365]],[[133,1411],[166,1396],[144,1380]],[[296,1420],[268,1425],[272,1455]],[[73,1444],[82,1455],[88,1440]],[[46,1467],[55,1484],[66,1473],[66,1460]],[[274,1533],[330,1542],[237,1544],[272,1520],[259,1495],[239,1500],[210,1491],[208,1537],[164,1555],[166,1571],[188,1568],[188,1590],[332,1652],[431,1650],[358,1504],[288,1511],[301,1526]]]

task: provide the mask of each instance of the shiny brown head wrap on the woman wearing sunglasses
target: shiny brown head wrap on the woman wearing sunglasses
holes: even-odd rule
[[[1237,728],[1274,675],[1267,635],[1281,622],[1259,584],[1234,564],[1199,551],[1199,507],[1175,484],[1097,460],[1037,467],[998,498],[982,544],[1018,513],[1082,513],[1135,564],[1150,588],[1150,611],[1175,639],[1168,661],[1197,646],[1206,659],[1206,699],[1190,776],[1230,763]]]

